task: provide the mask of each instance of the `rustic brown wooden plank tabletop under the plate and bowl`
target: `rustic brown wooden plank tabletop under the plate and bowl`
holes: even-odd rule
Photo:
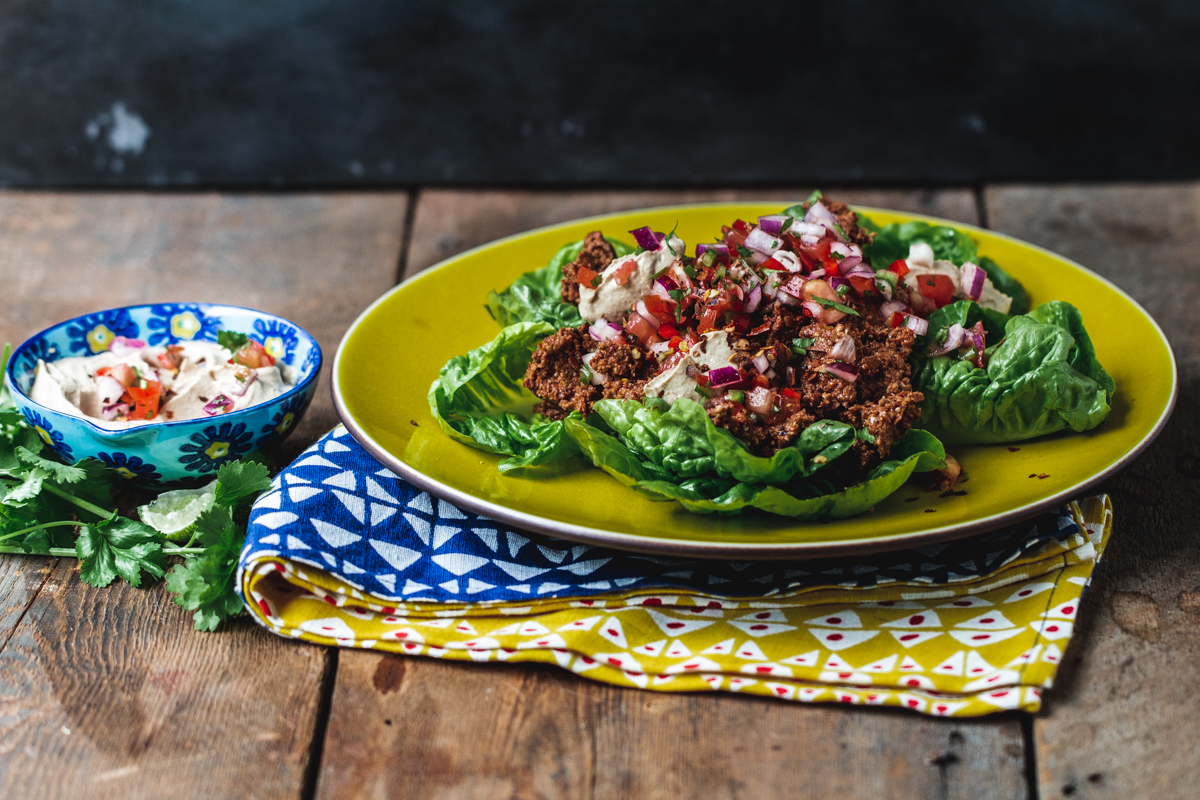
[[[193,300],[282,314],[332,354],[389,287],[492,239],[809,191],[0,192],[0,343],[97,308]],[[835,194],[1063,253],[1132,294],[1175,347],[1175,416],[1105,487],[1116,531],[1042,714],[641,692],[324,649],[247,618],[198,633],[161,585],[92,589],[72,559],[0,555],[0,796],[1195,796],[1200,185]],[[284,459],[337,422],[322,381]]]

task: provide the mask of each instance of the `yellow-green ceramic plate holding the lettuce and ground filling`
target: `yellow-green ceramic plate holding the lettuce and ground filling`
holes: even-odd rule
[[[502,239],[456,255],[396,287],[354,323],[334,361],[334,401],[354,438],[389,469],[462,507],[563,539],[643,552],[742,559],[805,558],[928,545],[996,528],[1078,495],[1128,464],[1158,434],[1175,402],[1175,359],[1162,330],[1122,290],[1060,255],[1008,236],[967,230],[1030,293],[1033,305],[1067,300],[1082,311],[1100,362],[1116,380],[1109,419],[1082,434],[958,447],[966,494],[940,497],[914,481],[869,513],[827,523],[751,511],[692,515],[652,503],[582,461],[502,475],[498,456],[446,437],[426,395],[442,366],[496,337],[484,308],[491,289],[542,266],[588,231],[626,237],[642,225],[689,243],[721,224],[788,205],[722,203],[592,217]],[[877,223],[928,219],[860,209]],[[518,470],[518,473],[522,470]]]

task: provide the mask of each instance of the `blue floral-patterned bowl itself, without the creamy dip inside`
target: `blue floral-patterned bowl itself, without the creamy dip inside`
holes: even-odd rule
[[[113,337],[149,344],[216,341],[217,330],[250,333],[277,361],[299,369],[296,385],[269,403],[203,420],[151,422],[107,431],[82,416],[46,408],[29,398],[37,360],[95,355]],[[30,337],[13,350],[5,386],[17,408],[50,447],[71,463],[98,458],[139,486],[187,486],[221,464],[282,441],[295,428],[317,391],[320,347],[282,317],[238,306],[158,303],[126,306],[76,317]]]

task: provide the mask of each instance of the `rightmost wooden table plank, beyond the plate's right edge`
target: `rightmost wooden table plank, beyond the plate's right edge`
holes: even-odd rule
[[[1171,422],[1105,487],[1112,542],[1058,685],[1034,720],[1042,796],[1194,798],[1200,185],[1014,186],[989,190],[986,203],[997,230],[1073,258],[1133,295],[1163,325],[1181,372]]]

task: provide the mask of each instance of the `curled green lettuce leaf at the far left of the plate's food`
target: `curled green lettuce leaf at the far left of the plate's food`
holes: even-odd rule
[[[538,343],[557,327],[517,323],[467,355],[455,356],[430,386],[430,409],[451,438],[511,456],[500,470],[535,467],[578,452],[560,421],[533,414],[538,402],[521,385]]]

